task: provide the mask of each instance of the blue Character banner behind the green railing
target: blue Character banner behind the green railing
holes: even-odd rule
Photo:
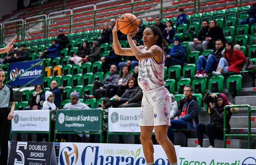
[[[25,70],[33,66],[34,64],[40,62],[41,60],[34,60],[34,61],[25,61],[25,62],[17,62],[17,63],[10,63],[9,64],[9,74],[8,79],[12,79],[17,77],[18,74],[23,73]],[[40,65],[33,67],[32,69],[26,71],[18,78],[13,79],[8,83],[10,86],[23,86],[27,84],[29,81],[33,80],[37,76],[43,74],[43,62]],[[41,84],[42,77],[39,77],[35,81],[33,81],[30,85],[34,84]]]

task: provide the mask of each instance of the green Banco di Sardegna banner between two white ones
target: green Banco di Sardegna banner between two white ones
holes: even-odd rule
[[[56,129],[58,131],[100,131],[101,109],[72,109],[56,111]]]

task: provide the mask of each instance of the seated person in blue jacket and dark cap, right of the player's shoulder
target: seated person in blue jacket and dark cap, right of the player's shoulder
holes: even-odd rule
[[[185,46],[181,44],[179,37],[175,37],[173,40],[174,46],[166,56],[165,66],[167,66],[167,68],[173,65],[181,65],[183,67],[186,59]]]

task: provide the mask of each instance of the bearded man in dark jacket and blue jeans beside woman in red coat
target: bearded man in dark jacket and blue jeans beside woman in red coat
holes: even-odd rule
[[[212,53],[208,56],[206,60],[205,56],[199,56],[196,64],[196,74],[194,77],[208,77],[207,73],[211,73],[215,71],[217,65],[222,58],[222,50],[224,49],[223,43],[221,39],[217,39],[215,42],[215,49],[213,49]],[[200,74],[201,68],[203,67],[203,71]]]

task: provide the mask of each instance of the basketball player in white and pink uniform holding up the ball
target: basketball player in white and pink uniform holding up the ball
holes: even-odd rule
[[[120,18],[120,17],[119,17]],[[118,19],[119,19],[118,18]],[[131,48],[122,48],[118,38],[118,20],[113,29],[113,44],[118,55],[135,56],[139,60],[138,84],[143,90],[143,98],[140,110],[140,141],[147,165],[154,165],[154,147],[151,141],[152,131],[158,143],[163,147],[170,165],[178,165],[175,148],[167,137],[170,126],[171,96],[164,88],[164,62],[166,54],[163,50],[163,36],[160,29],[148,26],[143,31],[144,46],[136,46],[132,37],[138,32],[138,28],[127,35]]]

